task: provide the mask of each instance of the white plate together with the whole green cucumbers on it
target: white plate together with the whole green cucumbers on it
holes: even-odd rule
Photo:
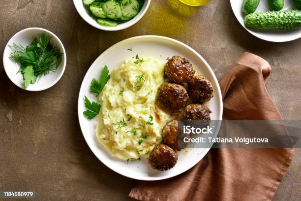
[[[301,0],[230,0],[244,29],[263,40],[285,42],[301,37]]]

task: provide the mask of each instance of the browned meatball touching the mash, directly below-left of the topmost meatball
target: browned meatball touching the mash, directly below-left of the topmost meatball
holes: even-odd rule
[[[158,88],[157,103],[169,112],[181,111],[188,100],[186,89],[174,83],[163,83]]]

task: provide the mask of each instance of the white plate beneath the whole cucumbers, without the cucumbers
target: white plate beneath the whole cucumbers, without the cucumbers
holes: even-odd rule
[[[241,26],[249,33],[252,33],[256,37],[271,42],[286,42],[295,40],[301,37],[301,29],[295,30],[255,30],[250,29],[244,25],[245,14],[241,11],[243,0],[230,0],[232,10],[241,23]],[[284,0],[284,7],[282,10],[296,9],[292,0]],[[269,0],[261,0],[255,12],[271,11]]]

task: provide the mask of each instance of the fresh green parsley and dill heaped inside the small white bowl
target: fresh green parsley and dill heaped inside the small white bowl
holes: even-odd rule
[[[54,72],[60,66],[62,53],[50,43],[52,37],[42,33],[34,38],[29,46],[13,44],[10,58],[21,64],[18,72],[22,73],[25,88],[34,84],[36,79],[49,72]]]

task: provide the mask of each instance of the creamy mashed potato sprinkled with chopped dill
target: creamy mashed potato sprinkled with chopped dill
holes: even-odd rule
[[[142,63],[131,58],[112,70],[99,95],[102,106],[96,135],[113,156],[123,160],[148,157],[162,141],[162,130],[171,120],[155,106],[157,89],[165,81],[164,66],[144,57]]]

